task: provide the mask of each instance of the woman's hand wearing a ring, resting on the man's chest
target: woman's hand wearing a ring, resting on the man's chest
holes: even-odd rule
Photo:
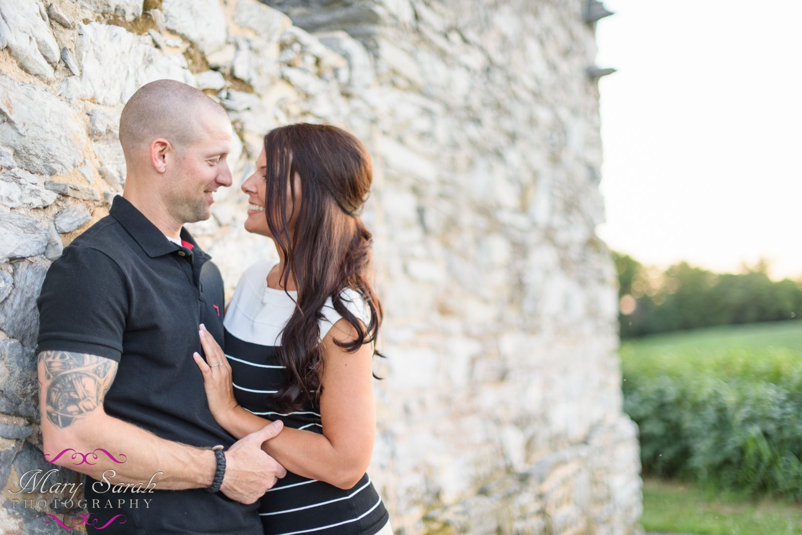
[[[201,324],[198,335],[201,336],[201,347],[206,354],[206,360],[197,353],[192,353],[192,358],[203,374],[203,386],[206,390],[206,399],[209,401],[209,410],[212,411],[217,423],[222,426],[226,415],[237,408],[231,366],[229,360],[225,358],[225,353],[204,324]]]

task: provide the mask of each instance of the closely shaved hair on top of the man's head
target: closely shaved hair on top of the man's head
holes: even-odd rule
[[[119,117],[119,144],[126,160],[153,139],[164,138],[181,150],[204,135],[201,121],[208,115],[228,118],[225,109],[195,87],[176,80],[156,80],[141,86]]]

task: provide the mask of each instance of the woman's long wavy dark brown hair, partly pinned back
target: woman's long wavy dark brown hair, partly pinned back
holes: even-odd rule
[[[318,372],[323,359],[318,320],[326,299],[354,326],[356,338],[334,343],[349,352],[373,344],[383,311],[372,288],[373,237],[360,217],[370,193],[371,157],[358,139],[338,127],[298,123],[269,131],[264,139],[265,218],[286,263],[280,279],[286,288],[290,274],[298,287],[295,311],[282,331],[278,360],[286,367],[284,383],[271,400],[280,410],[301,408],[302,401],[319,399]],[[295,198],[300,177],[300,206],[287,206],[287,191]],[[294,232],[288,222],[298,211]],[[289,212],[289,213],[288,213]],[[343,303],[340,293],[351,288],[371,312],[363,328]],[[312,394],[311,392],[314,392]]]

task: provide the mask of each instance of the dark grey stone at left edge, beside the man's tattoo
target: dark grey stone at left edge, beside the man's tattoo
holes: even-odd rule
[[[0,411],[13,416],[39,416],[36,356],[15,340],[0,341]],[[5,466],[0,463],[0,469]],[[2,480],[0,480],[2,481]]]

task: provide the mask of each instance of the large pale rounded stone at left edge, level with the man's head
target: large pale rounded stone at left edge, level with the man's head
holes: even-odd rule
[[[83,159],[86,132],[71,107],[44,87],[6,74],[0,74],[0,95],[0,144],[14,151],[19,167],[37,175],[67,175],[75,169]]]

